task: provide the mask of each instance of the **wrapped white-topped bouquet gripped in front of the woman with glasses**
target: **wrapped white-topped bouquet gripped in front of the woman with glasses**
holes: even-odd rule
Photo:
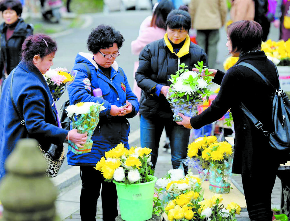
[[[104,104],[104,103],[103,103]],[[83,148],[77,147],[70,140],[68,141],[68,148],[75,154],[89,153],[93,146],[91,140],[92,135],[99,123],[99,114],[106,108],[103,104],[95,102],[79,102],[77,104],[70,105],[66,108],[68,117],[70,117],[70,124],[72,128],[77,128],[78,133],[88,133],[88,139]]]

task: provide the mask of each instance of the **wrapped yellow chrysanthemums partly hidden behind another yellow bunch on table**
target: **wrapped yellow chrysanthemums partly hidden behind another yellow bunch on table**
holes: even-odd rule
[[[202,153],[216,142],[216,136],[198,137],[187,147],[187,157],[182,162],[191,168],[197,169],[202,181],[209,179],[209,161],[202,157]]]

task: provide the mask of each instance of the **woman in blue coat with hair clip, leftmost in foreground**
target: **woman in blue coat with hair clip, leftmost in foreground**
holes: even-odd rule
[[[84,144],[88,138],[86,133],[77,133],[77,129],[62,129],[57,120],[57,110],[43,77],[53,64],[56,50],[56,43],[50,37],[29,36],[22,45],[22,61],[13,70],[13,97],[10,96],[12,76],[8,75],[4,82],[0,99],[0,178],[5,174],[6,158],[21,138],[36,139],[45,152],[52,143],[62,148],[68,137],[77,145]]]

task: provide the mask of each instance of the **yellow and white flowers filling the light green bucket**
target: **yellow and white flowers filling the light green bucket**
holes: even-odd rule
[[[101,171],[105,181],[115,180],[124,184],[146,183],[153,175],[151,149],[131,147],[129,150],[120,143],[97,162],[96,170]]]

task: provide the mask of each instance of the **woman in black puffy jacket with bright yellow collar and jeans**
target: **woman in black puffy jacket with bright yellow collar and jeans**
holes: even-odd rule
[[[207,66],[207,55],[200,46],[190,41],[188,31],[191,18],[184,10],[171,11],[166,20],[163,39],[145,46],[139,55],[139,67],[135,79],[142,89],[140,98],[141,146],[152,149],[153,168],[158,156],[158,147],[163,128],[169,132],[171,162],[173,169],[180,166],[186,157],[190,130],[173,121],[173,112],[166,100],[171,84],[168,79],[175,75],[179,64],[194,68],[197,61]],[[187,169],[185,168],[185,173]]]

